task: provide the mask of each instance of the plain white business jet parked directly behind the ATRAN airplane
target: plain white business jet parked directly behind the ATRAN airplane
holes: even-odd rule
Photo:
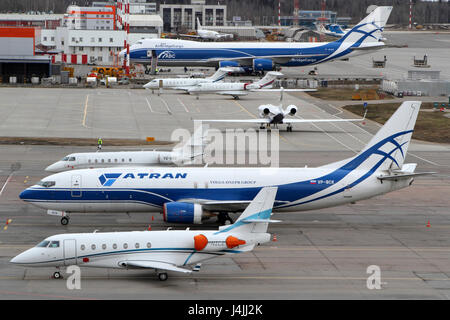
[[[202,125],[184,145],[177,145],[172,151],[142,150],[71,153],[49,165],[45,168],[45,171],[61,172],[86,168],[192,164],[196,157],[203,155],[207,136],[208,126]]]

